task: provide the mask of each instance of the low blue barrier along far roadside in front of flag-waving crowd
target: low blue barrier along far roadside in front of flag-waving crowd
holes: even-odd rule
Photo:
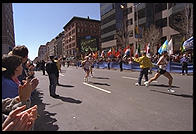
[[[108,68],[107,62],[99,62],[94,64],[95,68]],[[132,62],[130,64],[122,64],[123,69],[125,70],[134,70],[134,71],[140,71],[139,63]],[[117,62],[110,62],[110,68],[113,69],[120,69],[120,65]],[[152,70],[156,71],[158,67],[154,64]],[[181,73],[182,72],[182,64],[178,62],[169,62],[167,65],[167,71],[168,72],[175,72],[175,73]],[[188,73],[193,73],[193,63],[188,64]]]

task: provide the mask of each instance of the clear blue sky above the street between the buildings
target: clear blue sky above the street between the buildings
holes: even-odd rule
[[[25,45],[29,59],[63,31],[74,17],[100,20],[99,3],[13,3],[15,44]]]

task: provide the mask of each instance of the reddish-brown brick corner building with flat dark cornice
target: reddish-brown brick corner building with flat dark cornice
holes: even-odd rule
[[[63,56],[80,57],[100,49],[100,21],[73,17],[64,27]]]

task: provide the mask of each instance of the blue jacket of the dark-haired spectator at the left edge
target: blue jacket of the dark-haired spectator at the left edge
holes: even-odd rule
[[[18,85],[12,79],[2,76],[2,99],[18,96]]]

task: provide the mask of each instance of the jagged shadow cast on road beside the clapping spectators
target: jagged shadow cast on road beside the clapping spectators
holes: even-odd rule
[[[42,102],[43,93],[40,93],[37,89],[33,93],[31,105],[35,104],[38,106],[39,117],[35,121],[34,131],[57,131],[59,129],[58,125],[54,125],[57,121],[52,116],[55,116],[56,113],[51,113],[45,111],[46,103]]]

